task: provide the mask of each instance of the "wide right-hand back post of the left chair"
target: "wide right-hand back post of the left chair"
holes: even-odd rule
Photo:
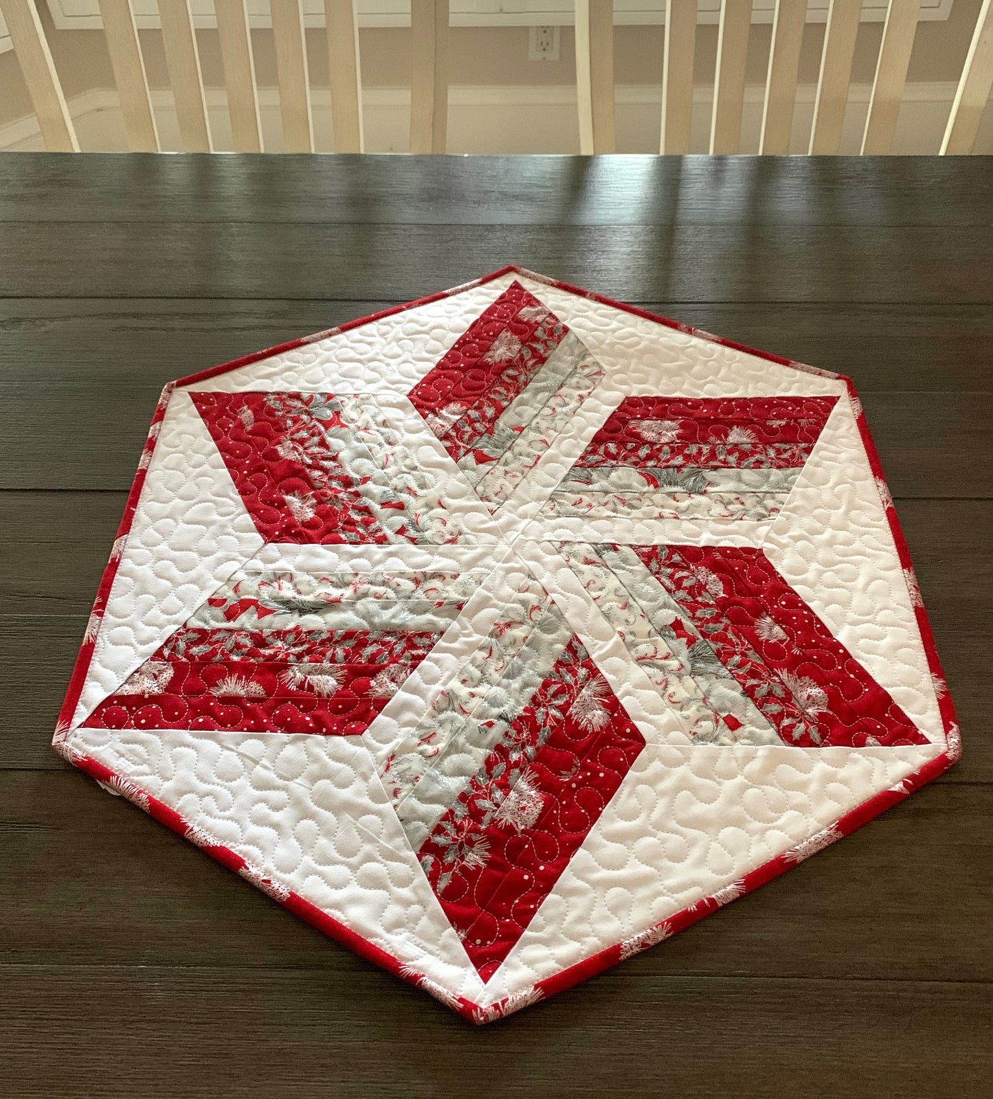
[[[443,153],[449,124],[449,0],[410,0],[410,152]]]

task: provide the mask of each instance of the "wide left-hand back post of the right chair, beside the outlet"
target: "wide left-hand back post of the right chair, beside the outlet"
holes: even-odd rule
[[[614,0],[575,0],[580,152],[613,153]]]

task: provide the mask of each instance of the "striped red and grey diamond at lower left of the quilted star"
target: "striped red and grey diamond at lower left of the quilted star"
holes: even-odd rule
[[[236,574],[86,724],[361,733],[438,643],[475,582],[446,573]],[[231,624],[205,623],[211,615]]]

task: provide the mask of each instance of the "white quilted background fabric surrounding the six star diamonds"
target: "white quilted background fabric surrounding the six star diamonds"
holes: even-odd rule
[[[556,428],[544,441],[533,468],[490,501],[477,493],[466,459],[452,456],[412,403],[412,391],[515,282],[578,336],[604,377],[572,410],[567,429]],[[243,502],[244,486],[233,479],[239,470],[225,463],[194,400],[246,392],[374,399],[384,431],[393,433],[405,460],[424,473],[452,517],[454,541],[319,544],[264,536]],[[631,397],[837,403],[777,513],[555,514],[552,493]],[[711,907],[733,899],[749,888],[747,875],[817,850],[846,831],[847,814],[885,791],[905,792],[911,786],[902,784],[913,785],[922,768],[948,753],[948,720],[939,712],[936,665],[922,640],[915,588],[856,417],[842,378],[781,365],[519,271],[180,382],[104,606],[98,606],[96,642],[91,652],[84,650],[85,677],[78,696],[70,692],[68,723],[57,735],[60,750],[80,765],[92,761],[134,784],[178,813],[200,845],[234,852],[247,864],[246,877],[267,882],[279,898],[290,891],[302,898],[463,1013],[477,1021],[505,1014],[539,998],[540,983],[569,967],[618,944],[618,957],[625,957],[664,937],[665,921],[677,924],[715,896]],[[395,476],[389,467],[386,473]],[[652,678],[654,666],[632,655],[628,639],[571,566],[573,543],[761,550],[863,674],[889,692],[919,731],[919,743],[696,743],[686,711]],[[162,728],[143,728],[145,719],[101,725],[97,719],[114,698],[134,696],[128,684],[136,669],[150,658],[161,660],[154,656],[161,646],[246,569],[264,577],[344,576],[353,587],[375,586],[383,576],[417,584],[420,576],[444,574],[463,578],[466,596],[439,628],[429,655],[405,671],[361,734],[194,731],[165,728],[165,720]],[[526,608],[519,619],[512,618],[515,607]],[[443,887],[432,886],[424,856],[419,858],[405,832],[393,800],[398,795],[384,782],[401,781],[391,768],[409,762],[411,752],[434,758],[430,740],[418,746],[413,735],[433,714],[468,713],[505,667],[520,667],[526,679],[541,650],[520,639],[529,630],[532,637],[542,630],[552,636],[555,623],[584,646],[644,746],[519,937],[499,964],[484,968],[473,953],[473,932],[453,922],[440,899]],[[523,645],[519,658],[515,644]],[[456,702],[462,711],[453,709]],[[503,704],[518,702],[508,698]],[[494,709],[477,735],[505,720],[501,713]],[[591,719],[594,725],[599,720]],[[528,795],[525,789],[516,810],[526,818]]]

